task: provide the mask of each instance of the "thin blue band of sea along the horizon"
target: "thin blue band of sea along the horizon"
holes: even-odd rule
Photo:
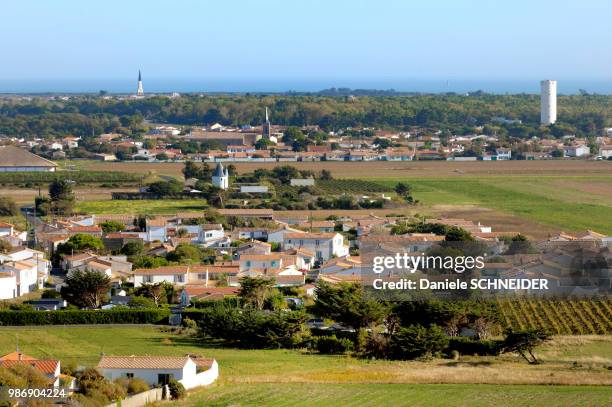
[[[542,78],[555,79],[555,78]],[[612,94],[612,79],[557,79],[559,94]],[[284,93],[317,92],[330,88],[395,90],[418,93],[537,94],[539,79],[183,79],[143,77],[145,93]],[[0,93],[134,93],[131,79],[0,79]]]

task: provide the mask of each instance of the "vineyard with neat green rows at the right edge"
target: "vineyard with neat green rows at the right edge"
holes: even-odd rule
[[[612,334],[612,300],[498,300],[506,326],[557,335]]]

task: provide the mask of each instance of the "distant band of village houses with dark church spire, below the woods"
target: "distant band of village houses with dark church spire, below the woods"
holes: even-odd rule
[[[304,132],[320,132],[318,126],[305,126]],[[484,132],[484,128],[477,128]],[[495,135],[473,134],[445,137],[441,131],[414,128],[411,131],[393,131],[370,128],[347,128],[326,133],[318,144],[308,144],[296,151],[292,142],[285,143],[286,126],[224,126],[215,123],[201,128],[163,125],[149,130],[142,140],[133,140],[119,133],[98,135],[94,142],[104,145],[103,151],[92,152],[90,158],[101,161],[408,161],[456,160],[503,161],[510,159],[598,158],[612,156],[612,130],[595,139],[594,146],[584,138],[566,135],[560,139],[533,137],[508,144]],[[355,134],[360,134],[355,137]],[[266,143],[258,144],[264,139]],[[90,140],[91,141],[91,140]],[[205,142],[205,152],[187,152],[176,148],[178,142]],[[19,138],[7,143],[25,149],[36,148],[49,152],[52,159],[64,159],[71,151],[83,147],[81,138],[66,136],[56,140]],[[43,150],[41,150],[41,148]],[[303,151],[302,151],[303,150]],[[514,153],[513,153],[514,152]],[[2,152],[0,151],[0,155]],[[82,156],[82,154],[79,154]],[[0,163],[2,157],[0,156]],[[14,163],[17,165],[16,163]],[[1,169],[0,169],[1,170]]]

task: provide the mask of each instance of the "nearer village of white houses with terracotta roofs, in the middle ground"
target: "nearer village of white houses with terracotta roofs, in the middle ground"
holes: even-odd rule
[[[330,282],[358,281],[363,278],[360,240],[379,239],[399,242],[415,252],[423,252],[444,240],[432,233],[408,233],[390,236],[390,229],[404,218],[378,217],[372,214],[332,220],[313,220],[306,215],[275,213],[271,209],[221,209],[219,214],[250,219],[259,226],[234,227],[230,230],[218,223],[201,223],[204,213],[190,212],[176,215],[148,217],[139,225],[129,215],[90,215],[41,221],[34,230],[34,247],[25,246],[25,235],[11,225],[0,227],[0,239],[16,243],[13,249],[0,255],[0,299],[19,297],[40,289],[49,279],[50,261],[61,243],[76,234],[101,238],[104,254],[85,251],[63,254],[59,267],[69,275],[75,270],[96,270],[109,276],[119,285],[125,282],[135,287],[143,284],[170,283],[179,288],[180,302],[189,305],[194,299],[219,299],[236,295],[243,277],[274,279],[277,287],[305,287],[312,292],[318,279]],[[105,233],[106,221],[125,225],[120,232]],[[427,219],[427,223],[462,228],[478,241],[493,247],[492,253],[501,254],[507,248],[507,237],[518,232],[495,232],[490,226],[464,219]],[[2,226],[2,225],[0,225]],[[15,236],[24,240],[16,241]],[[350,239],[350,240],[349,240]],[[550,241],[593,241],[598,247],[612,246],[612,238],[595,232],[585,234],[562,233]],[[134,268],[121,249],[131,242],[140,242],[144,254],[166,256],[182,244],[193,244],[213,250],[212,264],[169,265],[156,268]],[[351,255],[353,253],[354,255]],[[530,273],[544,271],[542,264],[550,264],[542,257],[522,259],[520,270]],[[209,263],[209,262],[208,262]],[[529,267],[535,267],[533,270]],[[508,268],[508,270],[506,270]],[[497,271],[516,273],[510,263]],[[535,272],[535,271],[534,271]],[[503,277],[501,273],[497,277]],[[60,287],[57,287],[60,289]],[[126,303],[114,298],[112,305]],[[56,307],[60,305],[55,305]],[[56,308],[53,308],[56,309]]]

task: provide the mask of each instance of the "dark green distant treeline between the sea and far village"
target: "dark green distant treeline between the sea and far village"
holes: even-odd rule
[[[539,129],[537,95],[184,95],[113,100],[75,96],[69,100],[4,99],[0,101],[0,134],[8,136],[76,135],[103,132],[142,134],[144,120],[188,126],[260,124],[264,107],[273,124],[319,125],[324,130],[347,127],[408,129],[431,127],[449,133],[471,133],[475,126],[495,126],[496,134],[525,138],[534,132],[592,136],[612,125],[612,95],[559,96],[559,122]],[[499,124],[495,117],[523,123]]]

